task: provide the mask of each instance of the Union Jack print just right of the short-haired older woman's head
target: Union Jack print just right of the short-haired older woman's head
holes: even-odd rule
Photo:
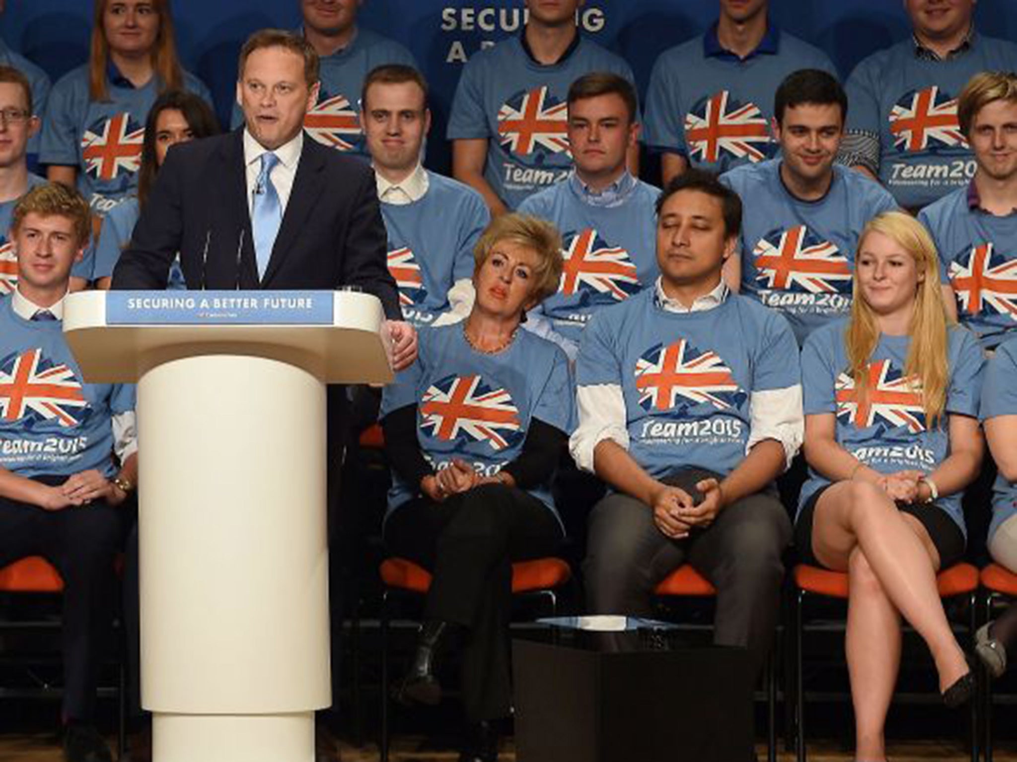
[[[609,246],[592,228],[565,240],[559,293],[572,296],[580,291],[593,292],[604,295],[606,301],[620,302],[639,291],[636,265],[627,251]]]

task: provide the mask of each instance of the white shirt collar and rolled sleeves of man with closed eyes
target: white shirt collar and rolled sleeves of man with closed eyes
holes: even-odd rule
[[[719,307],[727,299],[729,292],[723,278],[709,294],[696,299],[691,307],[685,307],[665,293],[661,278],[654,289],[657,301],[668,312],[699,312]],[[569,449],[577,465],[591,473],[593,452],[605,439],[616,442],[629,449],[629,415],[625,410],[624,393],[620,384],[589,384],[576,390],[579,405],[579,427],[569,440]],[[752,392],[749,397],[750,432],[745,442],[745,453],[765,439],[773,439],[784,447],[787,465],[790,465],[804,437],[805,420],[802,412],[801,384],[782,389],[763,389]]]

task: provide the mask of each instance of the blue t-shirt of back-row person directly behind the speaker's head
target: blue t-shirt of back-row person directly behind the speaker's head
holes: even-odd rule
[[[301,33],[302,34],[302,33]],[[371,69],[382,64],[417,67],[413,55],[395,40],[357,27],[343,50],[323,56],[318,74],[321,89],[317,104],[304,117],[304,130],[322,145],[368,156],[360,128],[360,92]],[[244,113],[234,104],[230,120],[234,129],[244,123]]]

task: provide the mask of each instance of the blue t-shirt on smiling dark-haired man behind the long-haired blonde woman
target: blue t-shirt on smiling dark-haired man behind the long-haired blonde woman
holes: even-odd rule
[[[784,313],[801,344],[805,336],[851,308],[858,235],[897,204],[860,173],[833,168],[830,190],[817,201],[792,196],[781,160],[743,165],[721,182],[742,199],[741,293]]]

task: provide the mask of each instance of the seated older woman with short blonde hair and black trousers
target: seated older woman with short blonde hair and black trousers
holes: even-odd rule
[[[563,536],[550,481],[574,419],[569,360],[520,330],[525,312],[557,291],[560,249],[548,223],[496,217],[474,250],[470,315],[422,329],[417,361],[382,397],[393,467],[385,544],[433,574],[397,696],[437,703],[434,660],[460,640],[465,762],[493,762],[492,721],[511,711],[512,563],[553,554]]]

